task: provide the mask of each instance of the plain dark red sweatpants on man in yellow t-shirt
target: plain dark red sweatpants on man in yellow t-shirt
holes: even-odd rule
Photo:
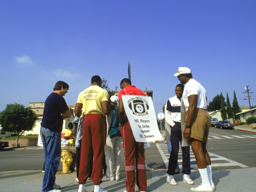
[[[78,183],[85,184],[90,172],[91,151],[93,150],[93,173],[91,180],[94,185],[102,183],[103,154],[105,146],[105,119],[101,114],[87,114],[83,117],[83,137]]]

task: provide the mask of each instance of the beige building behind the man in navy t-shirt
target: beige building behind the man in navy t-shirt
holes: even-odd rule
[[[33,128],[33,130],[32,131],[25,131],[24,135],[39,134],[40,127],[41,127],[41,122],[42,122],[42,118],[43,118],[45,102],[33,102],[33,103],[29,103],[29,106],[37,114],[38,119],[36,121],[36,125]],[[70,118],[65,118],[63,120],[63,129],[67,128],[68,123],[72,123],[73,118],[74,118],[74,105],[69,105],[68,108],[71,111],[71,117]]]

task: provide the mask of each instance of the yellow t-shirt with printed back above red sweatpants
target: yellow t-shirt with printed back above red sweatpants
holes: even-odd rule
[[[83,104],[82,115],[99,113],[104,116],[102,111],[102,101],[108,101],[108,91],[97,85],[88,87],[78,95],[77,103]]]

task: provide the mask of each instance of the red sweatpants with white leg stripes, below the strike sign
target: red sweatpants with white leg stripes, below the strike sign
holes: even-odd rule
[[[127,118],[127,117],[126,117]],[[145,150],[143,142],[136,142],[129,121],[120,128],[124,142],[126,191],[134,192],[135,188],[135,164],[136,184],[140,191],[146,191],[147,175],[145,167]]]

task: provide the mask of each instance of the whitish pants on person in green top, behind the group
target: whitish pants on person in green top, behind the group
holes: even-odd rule
[[[105,156],[107,164],[108,177],[114,176],[114,165],[116,166],[116,175],[120,174],[121,166],[121,141],[122,137],[107,138],[105,144]]]

